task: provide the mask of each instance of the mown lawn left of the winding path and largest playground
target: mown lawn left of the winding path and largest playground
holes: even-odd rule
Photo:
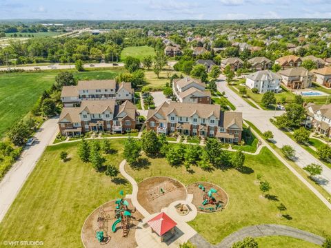
[[[111,141],[117,153],[108,155],[105,165],[119,165],[122,143],[123,139]],[[71,158],[66,163],[59,158],[63,150]],[[83,247],[81,228],[88,215],[118,198],[119,190],[132,191],[130,183],[119,178],[122,181],[117,183],[125,184],[115,184],[104,173],[95,172],[90,163],[82,163],[77,143],[47,147],[0,223],[1,241],[43,240],[43,247]]]

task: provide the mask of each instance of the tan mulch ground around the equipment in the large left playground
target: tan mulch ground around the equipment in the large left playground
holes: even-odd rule
[[[128,247],[137,247],[137,242],[134,237],[135,227],[139,224],[139,221],[143,219],[143,216],[139,213],[139,211],[134,211],[134,207],[131,203],[130,199],[126,199],[129,203],[129,209],[131,211],[132,217],[130,219],[130,231],[128,236],[122,237],[121,223],[117,224],[116,232],[112,232],[112,223],[114,223],[116,218],[114,218],[114,209],[115,209],[115,200],[112,200],[102,207],[105,211],[106,216],[108,216],[108,221],[105,222],[105,227],[107,229],[107,236],[109,237],[108,242],[105,244],[100,244],[96,238],[96,232],[99,231],[98,225],[98,216],[99,216],[99,208],[95,209],[92,214],[86,220],[86,223],[83,226],[81,231],[81,239],[87,248],[94,247],[116,247],[116,248],[128,248]],[[106,235],[105,235],[106,236]]]

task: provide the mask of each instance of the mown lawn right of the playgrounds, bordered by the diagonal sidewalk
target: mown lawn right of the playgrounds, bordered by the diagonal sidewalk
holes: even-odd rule
[[[263,148],[258,156],[245,156],[245,172],[234,169],[205,172],[199,167],[171,167],[164,158],[149,158],[148,169],[128,173],[138,182],[151,176],[170,176],[188,185],[197,181],[208,181],[222,187],[228,193],[228,207],[214,214],[198,214],[189,224],[209,242],[217,244],[225,236],[248,225],[276,223],[289,225],[319,235],[330,235],[331,213],[310,190],[305,187],[269,149]],[[261,198],[257,174],[272,186],[269,192],[273,200]],[[279,218],[277,205],[283,203],[291,220]]]

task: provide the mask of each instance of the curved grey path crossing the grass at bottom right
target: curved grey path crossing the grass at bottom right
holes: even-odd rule
[[[219,244],[214,247],[217,248],[230,248],[234,242],[243,240],[246,237],[264,237],[264,236],[288,236],[305,240],[316,245],[322,245],[325,238],[312,234],[308,231],[302,231],[297,228],[288,227],[285,225],[263,224],[243,227],[229,236],[225,237]]]

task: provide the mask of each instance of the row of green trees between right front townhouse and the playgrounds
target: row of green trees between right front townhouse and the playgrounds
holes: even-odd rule
[[[124,145],[124,157],[131,166],[139,166],[141,151],[147,156],[164,156],[172,166],[197,165],[205,170],[221,167],[243,169],[245,155],[237,151],[230,155],[222,149],[221,143],[214,138],[208,138],[205,147],[199,145],[168,144],[165,136],[157,135],[154,131],[144,132],[141,141],[128,138]]]

